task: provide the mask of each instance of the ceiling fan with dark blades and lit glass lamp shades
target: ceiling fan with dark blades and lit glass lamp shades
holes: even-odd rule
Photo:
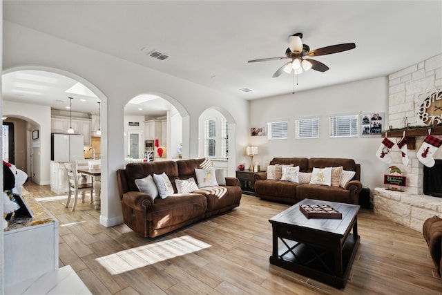
[[[281,66],[274,74],[273,78],[279,77],[283,72],[291,73],[291,70],[294,70],[295,74],[300,74],[304,70],[309,70],[310,68],[313,70],[318,70],[319,72],[325,72],[329,70],[329,67],[323,64],[320,61],[316,61],[314,59],[304,58],[304,57],[317,57],[319,55],[331,55],[332,53],[340,53],[343,51],[347,51],[350,49],[356,48],[356,44],[354,43],[344,43],[344,44],[336,44],[332,46],[327,46],[323,48],[318,48],[315,50],[310,50],[307,44],[302,44],[302,32],[297,32],[294,35],[289,36],[289,48],[285,50],[285,57],[269,57],[265,59],[252,59],[248,62],[258,62],[258,61],[271,61],[278,59],[291,59],[291,61],[287,62]]]

